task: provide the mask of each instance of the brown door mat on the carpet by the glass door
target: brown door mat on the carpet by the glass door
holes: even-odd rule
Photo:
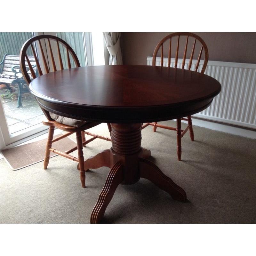
[[[60,135],[56,135],[54,138]],[[14,148],[4,149],[2,150],[2,155],[12,170],[19,170],[26,166],[44,161],[46,142],[47,139],[44,139]],[[52,144],[52,148],[56,148],[62,152],[74,147],[76,147],[76,143],[68,137]],[[57,156],[57,154],[51,152],[50,157],[53,156]],[[44,167],[42,166],[42,168]]]

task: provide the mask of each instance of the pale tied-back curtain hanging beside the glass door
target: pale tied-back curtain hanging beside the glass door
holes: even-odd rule
[[[122,65],[122,53],[120,47],[120,36],[119,32],[103,32],[105,44],[108,48],[109,65]]]

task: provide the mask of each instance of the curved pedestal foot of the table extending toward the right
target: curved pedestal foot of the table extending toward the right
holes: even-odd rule
[[[145,178],[153,182],[158,188],[169,193],[174,200],[185,202],[186,192],[167,177],[155,164],[141,158],[139,161],[140,178]]]

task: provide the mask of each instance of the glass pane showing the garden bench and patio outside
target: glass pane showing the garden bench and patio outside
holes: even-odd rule
[[[31,37],[33,33],[0,33],[0,96],[10,134],[41,123],[44,116],[20,72],[20,49]]]

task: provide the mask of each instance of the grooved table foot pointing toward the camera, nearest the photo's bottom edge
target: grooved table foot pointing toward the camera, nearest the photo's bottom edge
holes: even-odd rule
[[[123,165],[121,163],[116,163],[108,173],[107,180],[102,191],[100,192],[99,199],[92,210],[91,223],[99,223],[103,218],[106,208],[111,201],[117,186],[123,180]]]

